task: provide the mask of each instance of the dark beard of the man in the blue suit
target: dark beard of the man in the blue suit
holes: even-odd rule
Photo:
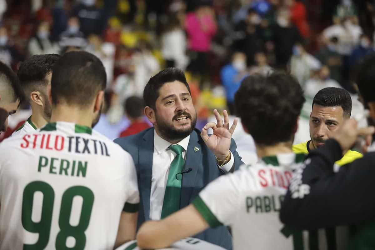
[[[182,140],[189,136],[191,132],[193,132],[195,125],[196,125],[196,115],[195,117],[192,118],[192,116],[187,113],[187,112],[180,112],[176,114],[172,122],[177,119],[177,117],[181,115],[186,115],[186,119],[191,120],[191,126],[187,129],[183,130],[177,130],[173,127],[173,125],[163,121],[158,115],[157,112],[155,112],[155,119],[156,119],[156,124],[157,124],[157,129],[159,130],[160,135],[166,139],[167,141],[177,141],[177,140]]]

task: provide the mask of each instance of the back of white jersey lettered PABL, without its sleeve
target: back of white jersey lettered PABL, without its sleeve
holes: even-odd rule
[[[280,222],[279,211],[293,170],[305,157],[305,154],[264,157],[234,173],[236,179],[232,182],[240,193],[239,211],[231,225],[234,249],[293,249],[293,232]]]

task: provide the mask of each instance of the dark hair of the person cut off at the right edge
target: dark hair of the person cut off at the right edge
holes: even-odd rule
[[[358,64],[356,83],[365,103],[375,102],[375,54],[366,55]]]

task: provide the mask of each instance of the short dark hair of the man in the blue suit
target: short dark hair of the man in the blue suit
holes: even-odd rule
[[[143,100],[145,105],[151,107],[152,109],[155,109],[155,103],[157,97],[159,97],[160,88],[165,83],[174,81],[179,81],[185,84],[187,90],[191,95],[189,84],[187,84],[185,73],[183,72],[183,70],[177,69],[175,67],[168,67],[152,76],[150,80],[148,80],[143,91]]]

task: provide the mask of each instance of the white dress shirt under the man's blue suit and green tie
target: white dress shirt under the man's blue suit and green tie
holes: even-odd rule
[[[177,144],[183,147],[182,157],[185,160],[187,146],[189,145],[190,135],[184,138]],[[154,153],[152,159],[152,175],[151,175],[151,194],[150,194],[150,219],[160,220],[163,208],[164,193],[166,182],[168,180],[169,167],[176,156],[176,154],[168,147],[171,144],[165,141],[156,131],[154,132]],[[232,154],[232,153],[231,153]],[[233,167],[234,159],[231,155],[231,160],[220,167],[222,171],[229,172]],[[186,166],[189,168],[191,166]]]

